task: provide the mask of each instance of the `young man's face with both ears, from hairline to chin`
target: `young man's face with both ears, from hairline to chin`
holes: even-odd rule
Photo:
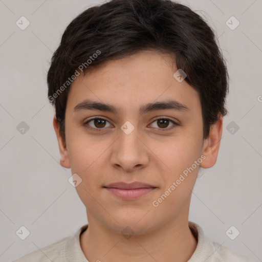
[[[108,61],[72,83],[66,144],[55,120],[54,126],[61,165],[82,180],[76,190],[89,223],[143,234],[188,219],[198,170],[216,161],[222,119],[203,141],[199,94],[177,81],[176,71],[168,55],[143,51]],[[110,186],[117,182],[147,185]]]

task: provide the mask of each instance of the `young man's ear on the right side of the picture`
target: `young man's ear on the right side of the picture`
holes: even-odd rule
[[[210,127],[209,136],[204,140],[202,154],[206,156],[206,159],[202,161],[200,167],[210,168],[215,164],[219,154],[222,130],[223,116],[220,116],[219,120]]]

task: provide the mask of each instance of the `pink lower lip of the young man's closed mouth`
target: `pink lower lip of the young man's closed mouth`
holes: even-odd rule
[[[106,189],[121,199],[132,200],[142,197],[142,195],[148,194],[149,192],[152,192],[155,189],[155,187],[135,189],[120,189],[115,187],[106,187]]]

